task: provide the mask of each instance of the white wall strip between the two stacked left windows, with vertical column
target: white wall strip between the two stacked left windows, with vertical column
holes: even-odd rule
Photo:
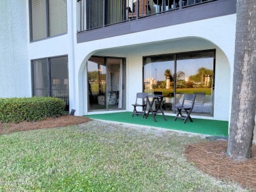
[[[75,109],[75,74],[74,74],[74,42],[76,38],[76,30],[73,22],[74,1],[67,0],[68,11],[68,33],[49,37],[40,41],[28,43],[28,62],[41,58],[52,58],[57,56],[68,55],[68,77],[69,77],[69,98],[70,109]],[[31,70],[31,69],[30,69]],[[31,72],[30,72],[31,76]],[[30,86],[30,91],[32,87]]]

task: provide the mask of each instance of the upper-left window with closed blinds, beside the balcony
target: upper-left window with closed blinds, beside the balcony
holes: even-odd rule
[[[66,0],[30,1],[31,40],[67,33]]]

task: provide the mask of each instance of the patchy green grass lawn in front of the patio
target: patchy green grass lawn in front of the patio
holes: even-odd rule
[[[91,121],[0,135],[0,191],[243,191],[188,163],[204,139]]]

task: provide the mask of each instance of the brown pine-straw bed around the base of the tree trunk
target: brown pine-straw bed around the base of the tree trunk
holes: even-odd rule
[[[203,172],[215,178],[233,180],[256,191],[256,145],[252,147],[253,158],[240,162],[224,155],[227,145],[222,140],[202,142],[188,145],[184,153]]]

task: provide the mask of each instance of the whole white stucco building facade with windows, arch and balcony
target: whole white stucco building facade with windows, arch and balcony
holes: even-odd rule
[[[0,97],[56,96],[75,115],[132,111],[161,92],[166,115],[196,93],[194,117],[228,121],[234,0],[0,3]]]

